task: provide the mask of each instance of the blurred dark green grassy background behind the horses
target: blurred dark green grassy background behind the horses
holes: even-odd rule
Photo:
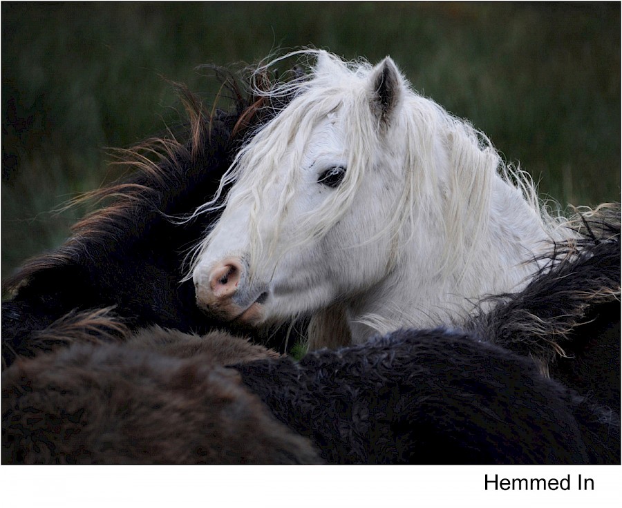
[[[391,55],[563,206],[619,201],[620,4],[6,3],[2,275],[68,235],[50,213],[109,178],[108,146],[179,119],[162,77],[209,99],[205,63],[313,45]]]

